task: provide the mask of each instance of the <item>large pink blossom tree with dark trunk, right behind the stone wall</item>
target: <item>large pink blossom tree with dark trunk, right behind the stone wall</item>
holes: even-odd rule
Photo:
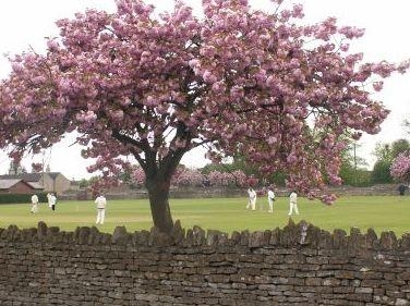
[[[107,179],[133,156],[145,174],[155,227],[173,222],[169,187],[181,158],[206,146],[218,160],[240,154],[263,173],[284,170],[300,192],[340,183],[341,136],[377,133],[388,114],[369,86],[408,63],[365,63],[349,52],[363,30],[335,19],[301,22],[301,5],[203,0],[203,15],[176,1],[154,14],[142,0],[114,13],[60,20],[46,54],[12,59],[0,86],[0,147],[21,158],[76,131],[89,171]],[[318,195],[319,196],[319,195]],[[329,199],[331,197],[326,197]]]

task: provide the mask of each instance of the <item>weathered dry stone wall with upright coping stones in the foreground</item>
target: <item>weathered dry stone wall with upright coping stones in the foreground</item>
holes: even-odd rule
[[[0,305],[410,305],[410,235],[0,229]]]

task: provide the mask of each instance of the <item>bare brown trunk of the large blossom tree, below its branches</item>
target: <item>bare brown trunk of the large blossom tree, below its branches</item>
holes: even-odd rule
[[[160,232],[170,233],[173,228],[168,201],[170,183],[161,180],[147,180],[146,187],[148,189],[154,225]]]

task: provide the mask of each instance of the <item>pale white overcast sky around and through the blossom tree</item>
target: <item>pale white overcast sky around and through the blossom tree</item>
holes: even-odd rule
[[[158,10],[172,8],[172,0],[147,1]],[[201,0],[186,1],[197,12]],[[393,0],[388,3],[374,0],[285,0],[287,3],[301,3],[304,7],[305,20],[318,22],[327,16],[338,19],[340,25],[352,25],[365,29],[365,35],[351,44],[351,50],[364,53],[365,61],[387,60],[400,62],[410,58],[410,40],[407,30],[410,28],[409,0]],[[269,0],[250,0],[252,7],[269,10]],[[2,54],[15,54],[33,48],[38,52],[46,49],[45,37],[57,36],[55,22],[62,17],[73,17],[75,12],[84,12],[86,8],[114,11],[114,0],[3,0],[0,2],[0,78],[10,72],[10,63]],[[364,135],[358,143],[358,155],[369,166],[374,163],[372,151],[376,143],[391,143],[398,138],[408,138],[402,126],[405,119],[410,119],[410,73],[395,74],[385,81],[384,90],[375,96],[391,112],[382,124],[377,135]],[[23,166],[31,170],[33,161],[45,161],[51,171],[62,172],[68,179],[88,179],[93,174],[86,171],[91,160],[84,160],[80,147],[73,144],[73,137],[67,137],[55,145],[44,156],[33,159],[27,156]],[[198,168],[206,164],[203,150],[195,150],[183,158],[182,163]],[[7,173],[10,161],[4,152],[0,152],[0,174]]]

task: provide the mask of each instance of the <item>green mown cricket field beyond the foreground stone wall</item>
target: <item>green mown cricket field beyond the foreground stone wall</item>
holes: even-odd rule
[[[267,212],[267,200],[261,197],[264,210],[248,211],[245,198],[171,199],[173,220],[181,220],[185,229],[200,225],[203,229],[220,230],[227,233],[243,230],[267,230],[282,228],[288,223],[288,198],[275,201],[274,213]],[[397,235],[410,232],[409,196],[354,196],[341,197],[333,206],[299,198],[300,216],[293,221],[305,220],[316,227],[333,231],[350,228],[366,231],[373,228],[378,234],[394,231]],[[40,204],[37,215],[29,212],[29,204],[1,205],[0,227],[16,224],[19,228],[37,227],[45,221],[49,227],[72,231],[76,227],[92,227],[96,211],[93,201],[59,201],[56,211]],[[106,210],[106,222],[98,225],[102,232],[112,233],[117,225],[125,225],[129,232],[149,230],[153,225],[149,204],[146,199],[110,200]]]

